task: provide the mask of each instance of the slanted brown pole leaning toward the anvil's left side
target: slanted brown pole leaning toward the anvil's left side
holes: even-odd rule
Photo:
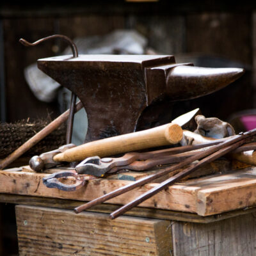
[[[83,108],[82,103],[79,101],[76,104],[75,112],[79,111],[81,108]],[[65,122],[68,119],[70,110],[68,109],[64,113],[62,113],[60,116],[58,116],[56,119],[54,119],[50,124],[48,124],[44,129],[42,129],[40,132],[36,133],[35,136],[30,138],[28,141],[26,141],[24,144],[22,144],[19,148],[17,148],[15,151],[12,152],[9,156],[4,158],[2,161],[0,161],[0,170],[11,164],[13,161],[15,161],[17,158],[22,156],[26,151],[29,150],[29,148],[33,147],[38,143],[40,140],[43,140],[48,134],[50,134],[52,131],[60,127],[63,122]]]

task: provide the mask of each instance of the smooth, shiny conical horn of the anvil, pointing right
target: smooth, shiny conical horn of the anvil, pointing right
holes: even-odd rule
[[[243,68],[204,68],[180,65],[168,72],[168,95],[172,100],[194,99],[224,88],[243,74]]]

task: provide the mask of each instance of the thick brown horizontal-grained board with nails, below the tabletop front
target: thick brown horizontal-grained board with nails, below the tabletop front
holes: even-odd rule
[[[76,217],[76,218],[75,218]],[[19,255],[170,255],[170,221],[16,206]]]

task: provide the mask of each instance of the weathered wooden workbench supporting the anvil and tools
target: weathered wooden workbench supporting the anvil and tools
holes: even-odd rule
[[[212,163],[213,174],[170,186],[116,220],[108,213],[157,183],[81,214],[72,209],[146,173],[90,180],[65,192],[42,184],[49,174],[5,170],[0,202],[17,204],[20,255],[255,255],[256,168],[230,171],[225,163]]]

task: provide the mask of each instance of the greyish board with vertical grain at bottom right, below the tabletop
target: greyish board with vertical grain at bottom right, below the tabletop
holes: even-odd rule
[[[255,214],[209,223],[173,221],[173,255],[256,255]]]

